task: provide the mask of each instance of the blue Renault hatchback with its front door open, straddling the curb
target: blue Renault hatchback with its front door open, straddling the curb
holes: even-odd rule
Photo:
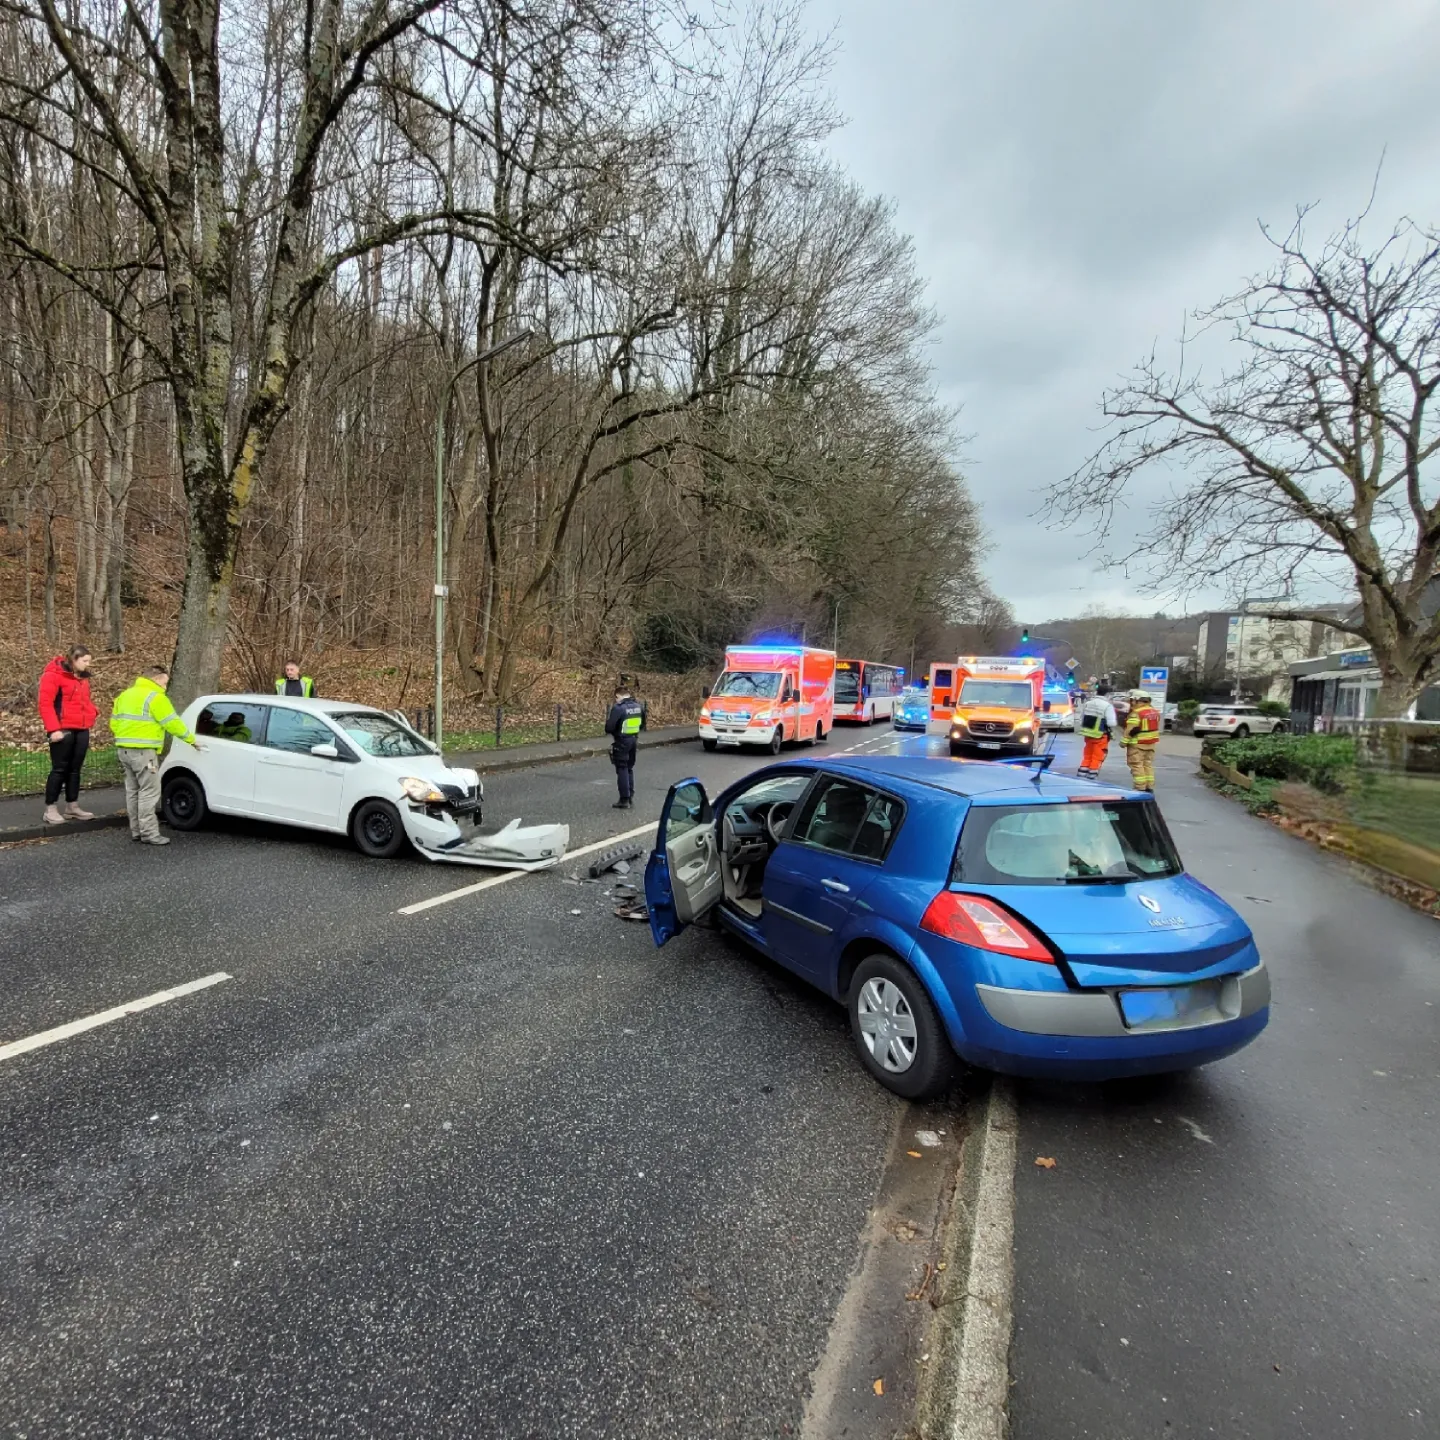
[[[1155,799],[1024,763],[854,756],[671,788],[657,945],[701,916],[850,1011],[909,1099],[956,1058],[1106,1080],[1233,1054],[1270,1018],[1250,927],[1185,874]]]

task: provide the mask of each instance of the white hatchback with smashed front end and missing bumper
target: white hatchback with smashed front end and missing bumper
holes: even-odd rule
[[[387,858],[409,842],[428,860],[469,860],[482,788],[395,716],[344,700],[200,696],[170,747],[160,809],[174,829],[209,811],[350,835]]]

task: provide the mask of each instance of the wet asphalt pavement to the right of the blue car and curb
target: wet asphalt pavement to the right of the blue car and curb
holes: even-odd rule
[[[1433,1440],[1440,926],[1211,793],[1184,746],[1161,804],[1253,926],[1272,1021],[1189,1077],[1020,1089],[1012,1440]]]

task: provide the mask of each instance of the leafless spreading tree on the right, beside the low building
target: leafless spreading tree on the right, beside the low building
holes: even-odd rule
[[[1273,268],[1202,311],[1241,356],[1215,382],[1152,354],[1103,402],[1106,444],[1048,495],[1050,514],[1107,530],[1142,472],[1153,524],[1126,560],[1174,582],[1260,583],[1296,595],[1277,618],[1364,639],[1380,714],[1403,714],[1440,674],[1440,233],[1410,222],[1367,249],[1352,222],[1318,248],[1305,212],[1272,238]],[[1267,232],[1267,238],[1269,232]],[[1356,612],[1310,609],[1354,586]]]

